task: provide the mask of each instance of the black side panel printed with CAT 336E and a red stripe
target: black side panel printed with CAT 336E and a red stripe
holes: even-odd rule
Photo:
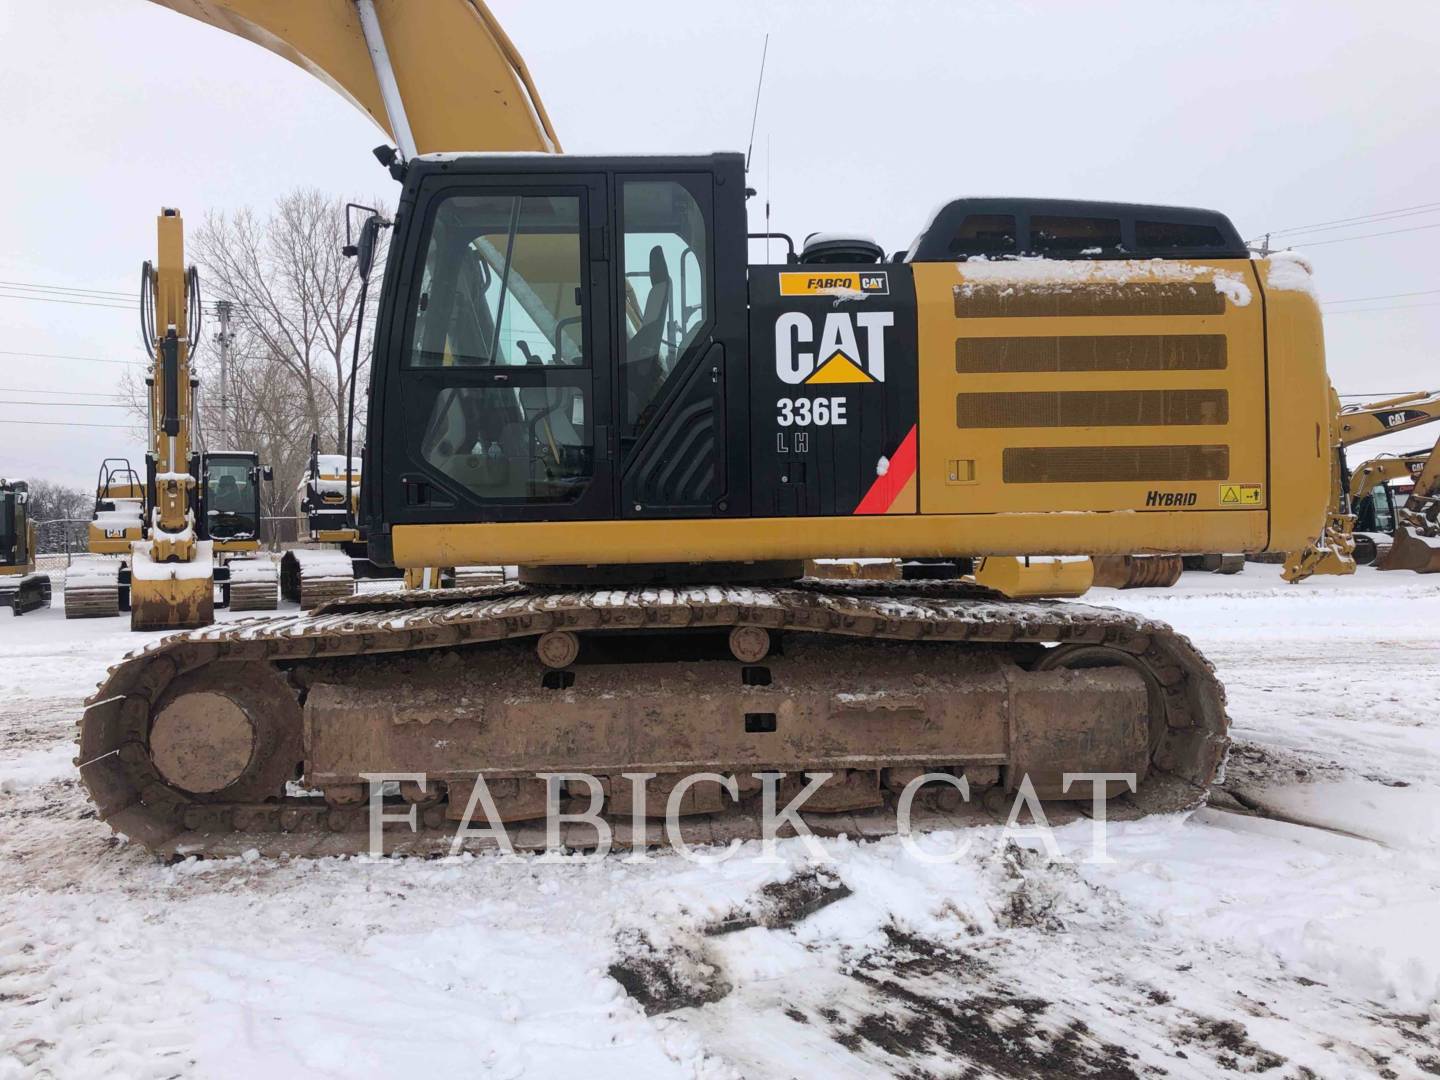
[[[913,514],[919,372],[910,268],[750,268],[756,517]]]

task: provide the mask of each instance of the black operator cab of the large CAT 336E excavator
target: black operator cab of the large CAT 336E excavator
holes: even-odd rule
[[[740,157],[484,161],[410,167],[372,543],[412,523],[743,516]]]

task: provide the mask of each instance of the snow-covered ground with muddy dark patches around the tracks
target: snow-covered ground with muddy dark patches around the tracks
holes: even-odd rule
[[[1215,662],[1208,808],[719,867],[163,865],[71,768],[118,619],[0,613],[0,1077],[1440,1076],[1440,580],[1099,590]],[[1227,805],[1241,804],[1227,799]]]

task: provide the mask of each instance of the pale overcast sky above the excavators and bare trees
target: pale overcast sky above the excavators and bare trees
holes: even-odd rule
[[[1247,238],[1440,202],[1433,0],[491,7],[570,153],[744,150],[769,32],[753,183],[798,235],[901,248],[963,194],[1207,206]],[[353,107],[144,0],[0,0],[0,50],[3,282],[134,297],[160,206],[199,222],[302,184],[393,199]],[[1384,297],[1328,311],[1341,392],[1440,386],[1437,226],[1431,207],[1305,235],[1408,229],[1303,248],[1325,300]],[[99,458],[143,456],[138,432],[13,420],[124,415],[13,402],[115,393],[121,364],[46,354],[138,360],[138,315],[17,292],[0,285],[0,475],[89,487]]]

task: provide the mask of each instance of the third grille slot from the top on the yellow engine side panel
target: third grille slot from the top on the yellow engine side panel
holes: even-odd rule
[[[1044,390],[958,393],[960,428],[1129,428],[1225,423],[1225,390]]]

